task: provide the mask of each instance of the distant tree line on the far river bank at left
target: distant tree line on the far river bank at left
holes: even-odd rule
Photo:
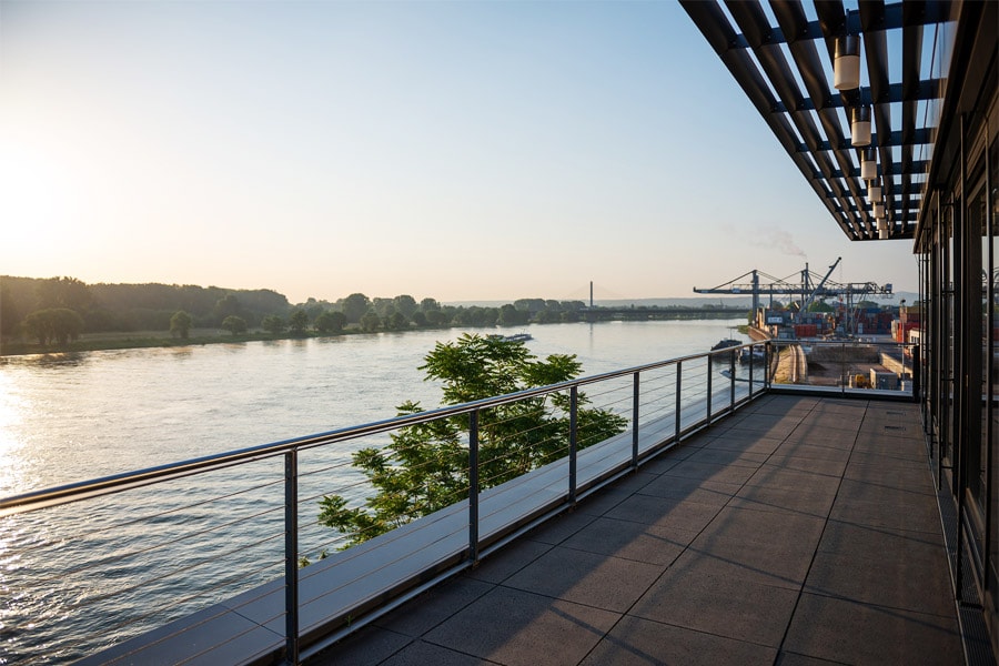
[[[87,284],[75,278],[0,276],[0,335],[65,344],[83,333],[163,331],[186,339],[193,329],[233,335],[406,331],[447,326],[518,326],[577,322],[582,301],[521,299],[500,307],[443,305],[403,294],[370,299],[353,293],[334,302],[292,305],[272,290],[176,284]]]

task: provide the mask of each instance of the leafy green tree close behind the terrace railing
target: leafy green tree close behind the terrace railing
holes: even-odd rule
[[[538,361],[523,342],[465,334],[438,342],[421,370],[443,384],[443,403],[460,404],[571,380],[582,365],[575,355]],[[585,447],[622,432],[627,420],[586,407],[578,395],[577,442]],[[400,415],[422,412],[406,402]],[[367,476],[375,494],[363,506],[340,495],[320,502],[320,523],[357,544],[468,496],[467,416],[402,428],[385,448],[363,448],[353,465]],[[555,393],[480,412],[481,487],[492,487],[566,455],[569,397]]]

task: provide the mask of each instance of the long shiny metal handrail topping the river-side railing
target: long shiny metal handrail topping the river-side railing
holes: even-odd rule
[[[0,498],[0,517],[12,514],[27,513],[49,506],[57,506],[60,504],[69,504],[71,502],[77,502],[90,497],[110,495],[113,493],[142,487],[159,482],[191,476],[193,474],[201,474],[213,470],[221,470],[244,462],[274,457],[287,453],[289,451],[302,451],[315,446],[345,442],[366,435],[390,432],[410,425],[436,421],[438,418],[460,416],[462,414],[468,414],[478,410],[518,402],[528,397],[548,395],[551,393],[557,393],[559,391],[571,390],[573,387],[578,387],[586,384],[595,384],[597,382],[604,382],[607,380],[632,376],[636,372],[658,370],[660,367],[682,364],[687,361],[709,357],[713,355],[738,351],[743,347],[760,344],[766,344],[766,342],[751,342],[738,346],[724,347],[722,350],[688,354],[686,356],[667,359],[665,361],[636,365],[634,367],[624,370],[615,370],[586,377],[579,377],[576,380],[568,380],[558,384],[525,389],[524,391],[518,391],[516,393],[507,393],[505,395],[485,397],[458,405],[446,405],[427,412],[405,414],[402,416],[394,416],[392,418],[385,418],[382,421],[374,421],[363,425],[354,425],[327,431],[324,433],[294,437],[291,440],[281,440],[278,442],[271,442],[269,444],[260,444],[256,446],[238,448],[235,451],[216,453],[203,457],[191,458],[188,461],[168,463],[165,465],[145,467],[131,472],[122,472],[120,474],[112,474],[110,476],[102,476],[99,478],[80,481],[70,484],[52,486],[49,488],[42,488],[39,491],[21,493],[18,495],[11,495],[9,497]]]

